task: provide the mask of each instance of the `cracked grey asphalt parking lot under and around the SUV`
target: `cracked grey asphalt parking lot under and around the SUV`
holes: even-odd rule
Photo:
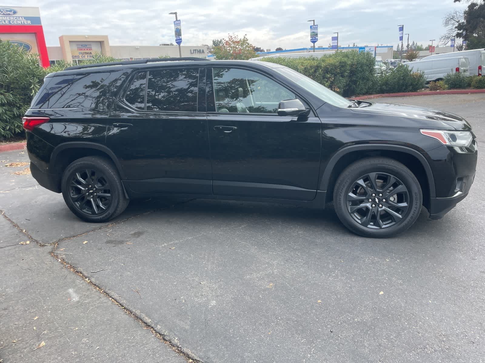
[[[485,94],[376,101],[485,139]],[[485,361],[481,152],[463,202],[379,240],[331,208],[232,201],[140,200],[88,224],[12,162],[26,152],[0,153],[0,362]]]

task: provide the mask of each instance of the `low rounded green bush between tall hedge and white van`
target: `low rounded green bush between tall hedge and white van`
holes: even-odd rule
[[[379,78],[379,92],[414,92],[424,87],[424,73],[413,72],[404,64],[398,65],[394,71]]]

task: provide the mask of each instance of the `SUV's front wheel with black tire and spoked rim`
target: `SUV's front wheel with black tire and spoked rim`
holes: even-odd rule
[[[416,222],[422,192],[419,181],[406,166],[393,159],[372,157],[358,160],[342,171],[333,199],[335,212],[345,227],[363,237],[385,238]]]

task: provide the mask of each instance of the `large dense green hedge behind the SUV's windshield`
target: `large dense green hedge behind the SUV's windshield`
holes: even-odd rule
[[[336,52],[324,57],[262,58],[278,63],[310,77],[323,86],[346,97],[369,94],[377,89],[374,58],[369,53]]]

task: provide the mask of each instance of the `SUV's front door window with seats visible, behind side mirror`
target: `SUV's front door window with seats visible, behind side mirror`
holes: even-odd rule
[[[276,113],[295,94],[259,73],[238,68],[213,68],[216,112]]]

